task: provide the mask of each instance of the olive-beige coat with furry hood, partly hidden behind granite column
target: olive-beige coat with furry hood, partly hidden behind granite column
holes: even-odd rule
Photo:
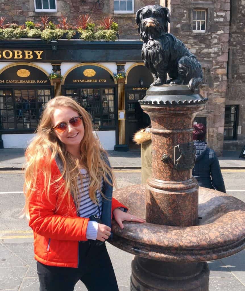
[[[134,142],[141,145],[141,182],[151,176],[151,133],[141,129],[134,135]]]

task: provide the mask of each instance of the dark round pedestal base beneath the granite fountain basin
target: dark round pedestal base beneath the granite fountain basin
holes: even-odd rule
[[[177,264],[135,256],[131,291],[208,291],[206,262]]]

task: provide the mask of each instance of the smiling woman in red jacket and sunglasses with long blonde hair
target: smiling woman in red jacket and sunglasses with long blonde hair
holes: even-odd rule
[[[25,213],[34,232],[40,291],[118,290],[106,250],[112,215],[144,222],[112,198],[115,178],[89,114],[70,97],[47,103],[26,150]]]

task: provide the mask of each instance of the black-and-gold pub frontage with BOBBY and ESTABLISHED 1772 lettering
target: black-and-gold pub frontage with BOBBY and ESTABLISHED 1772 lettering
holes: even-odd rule
[[[26,148],[46,103],[70,96],[93,118],[106,150],[135,148],[132,136],[150,123],[140,107],[153,81],[142,42],[1,40],[0,148]],[[49,80],[51,72],[63,79]],[[113,73],[125,72],[116,80]]]

